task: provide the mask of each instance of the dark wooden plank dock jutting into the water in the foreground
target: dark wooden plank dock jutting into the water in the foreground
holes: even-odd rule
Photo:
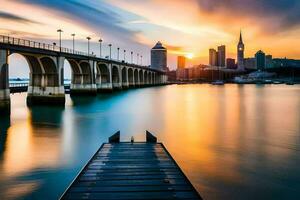
[[[162,143],[149,132],[147,142],[103,144],[61,199],[201,199]]]

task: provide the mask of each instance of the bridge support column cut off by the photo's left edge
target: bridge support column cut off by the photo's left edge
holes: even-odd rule
[[[10,114],[8,51],[0,50],[0,113]]]

